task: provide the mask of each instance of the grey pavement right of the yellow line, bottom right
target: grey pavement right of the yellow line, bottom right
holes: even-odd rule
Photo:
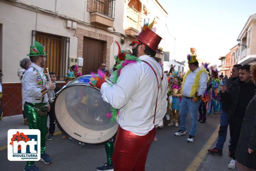
[[[207,152],[207,155],[204,157],[204,160],[201,162],[197,171],[236,171],[227,168],[227,165],[230,163],[231,158],[228,156],[228,145],[230,140],[230,131],[228,128],[227,140],[224,143],[224,148],[222,150],[222,156],[212,155]],[[212,145],[212,148],[215,147],[216,141]]]

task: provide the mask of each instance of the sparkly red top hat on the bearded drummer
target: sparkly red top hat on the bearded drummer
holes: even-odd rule
[[[140,35],[138,35],[137,39],[148,46],[150,49],[158,52],[157,47],[162,40],[162,38],[153,32],[151,29],[146,28],[143,30]]]

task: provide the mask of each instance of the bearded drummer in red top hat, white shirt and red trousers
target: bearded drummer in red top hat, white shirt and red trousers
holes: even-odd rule
[[[148,27],[132,42],[133,61],[122,68],[113,87],[105,81],[96,84],[102,97],[119,109],[119,128],[113,151],[114,171],[144,171],[151,142],[166,114],[167,77],[154,60],[161,39]]]

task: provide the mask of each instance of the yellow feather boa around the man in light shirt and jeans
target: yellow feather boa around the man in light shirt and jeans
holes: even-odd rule
[[[189,71],[184,75],[184,79],[183,79],[182,86],[181,86],[181,87],[182,87],[182,88],[181,88],[181,92],[182,92],[182,93],[183,93],[184,84],[185,84],[185,82],[186,82],[186,77],[187,77],[187,75],[188,75],[190,72],[191,72],[191,70],[189,70]],[[209,81],[209,75],[208,75],[207,70],[201,69],[201,70],[196,74],[196,76],[195,76],[195,81],[194,81],[194,84],[192,85],[192,88],[191,88],[191,92],[190,92],[190,94],[189,94],[189,97],[194,97],[194,96],[195,96],[195,94],[196,94],[196,92],[197,92],[197,90],[198,90],[198,87],[199,87],[200,75],[201,75],[203,72],[206,73],[206,75],[207,75],[207,81]]]

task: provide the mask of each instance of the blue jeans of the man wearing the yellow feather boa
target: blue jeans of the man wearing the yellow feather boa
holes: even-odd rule
[[[192,99],[182,98],[180,103],[180,130],[186,130],[186,116],[188,112],[191,117],[191,128],[189,135],[195,136],[196,126],[198,123],[198,108],[201,100],[193,102]]]

